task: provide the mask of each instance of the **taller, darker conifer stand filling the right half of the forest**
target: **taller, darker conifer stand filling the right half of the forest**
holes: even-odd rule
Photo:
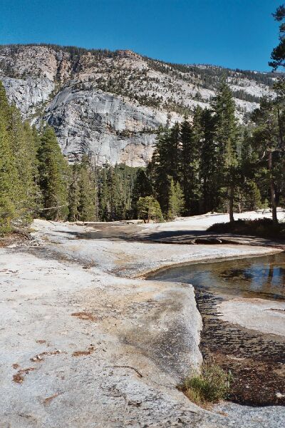
[[[237,122],[232,92],[225,81],[211,108],[197,107],[172,128],[160,130],[155,153],[141,179],[151,190],[164,218],[209,211],[272,208],[284,205],[284,82],[276,98],[264,97],[247,126]],[[147,184],[146,184],[147,187]]]

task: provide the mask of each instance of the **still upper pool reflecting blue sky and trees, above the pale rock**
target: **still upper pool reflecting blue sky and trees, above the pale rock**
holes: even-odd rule
[[[229,297],[285,298],[285,253],[170,267],[154,280],[186,282]]]

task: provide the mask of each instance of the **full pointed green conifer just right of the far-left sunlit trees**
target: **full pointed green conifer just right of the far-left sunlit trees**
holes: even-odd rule
[[[66,220],[68,215],[68,164],[61,153],[53,128],[46,126],[38,153],[43,215]]]

